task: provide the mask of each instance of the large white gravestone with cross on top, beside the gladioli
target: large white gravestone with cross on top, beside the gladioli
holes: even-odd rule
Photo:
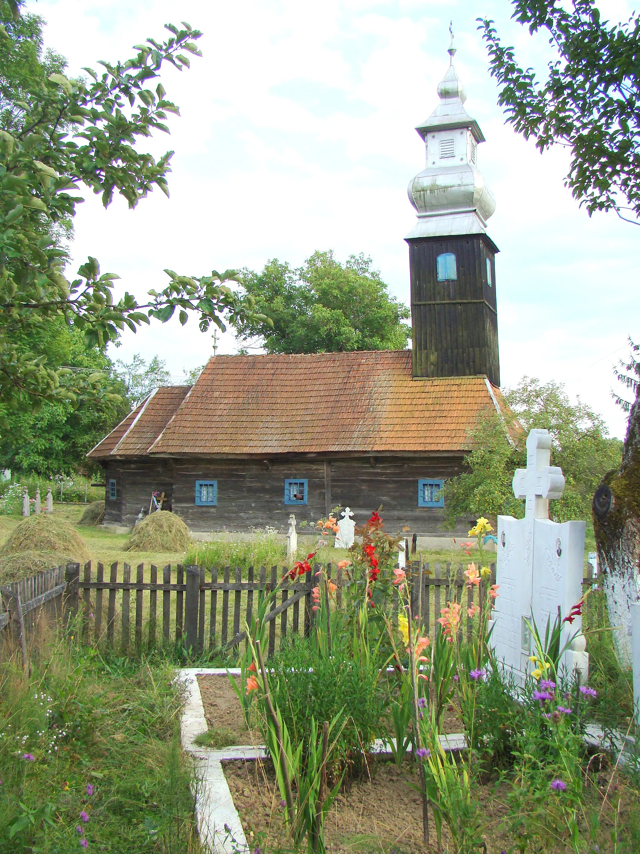
[[[531,668],[533,641],[527,629],[531,616],[544,640],[547,619],[556,619],[558,605],[566,617],[582,597],[585,522],[557,524],[549,519],[549,500],[564,491],[562,471],[550,464],[551,437],[547,430],[531,430],[527,437],[527,468],[513,479],[516,498],[525,499],[525,518],[497,518],[497,569],[499,585],[492,645],[497,659],[524,681]],[[564,623],[561,646],[581,628],[582,618]],[[579,635],[565,652],[561,668],[582,678],[588,669],[585,638]]]

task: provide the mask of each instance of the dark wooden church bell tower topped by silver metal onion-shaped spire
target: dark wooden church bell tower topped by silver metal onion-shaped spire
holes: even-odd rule
[[[405,238],[413,377],[486,374],[499,386],[498,249],[486,234],[496,202],[478,171],[478,145],[485,137],[464,108],[467,94],[453,66],[455,53],[451,43],[451,63],[438,86],[440,102],[416,127],[425,143],[427,167],[409,184],[417,222]]]

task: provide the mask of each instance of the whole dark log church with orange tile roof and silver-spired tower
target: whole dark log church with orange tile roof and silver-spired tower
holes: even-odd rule
[[[387,530],[441,533],[442,485],[463,471],[481,412],[502,415],[495,209],[485,141],[451,64],[416,128],[410,183],[411,350],[213,356],[194,386],[156,389],[99,442],[105,524],[132,525],[151,495],[195,531],[284,529],[382,506]],[[506,428],[505,428],[506,430]],[[466,535],[468,519],[453,533]]]

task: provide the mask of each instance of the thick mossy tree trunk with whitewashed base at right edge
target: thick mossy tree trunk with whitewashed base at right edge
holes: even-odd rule
[[[620,664],[631,667],[630,605],[640,600],[640,389],[629,413],[619,471],[609,471],[593,496],[602,587]]]

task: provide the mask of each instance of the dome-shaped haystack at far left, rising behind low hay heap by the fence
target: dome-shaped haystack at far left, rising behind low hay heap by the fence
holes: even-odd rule
[[[78,531],[64,519],[49,513],[39,513],[38,516],[22,519],[0,548],[0,556],[26,552],[53,553],[59,556],[55,558],[56,564],[67,560],[84,564],[91,558],[89,549]]]

